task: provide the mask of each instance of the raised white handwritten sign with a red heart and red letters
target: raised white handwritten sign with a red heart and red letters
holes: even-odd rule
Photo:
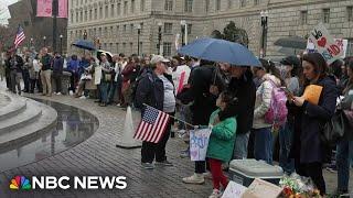
[[[311,32],[309,38],[328,64],[333,63],[343,55],[343,51],[334,42],[329,31],[319,23]]]

